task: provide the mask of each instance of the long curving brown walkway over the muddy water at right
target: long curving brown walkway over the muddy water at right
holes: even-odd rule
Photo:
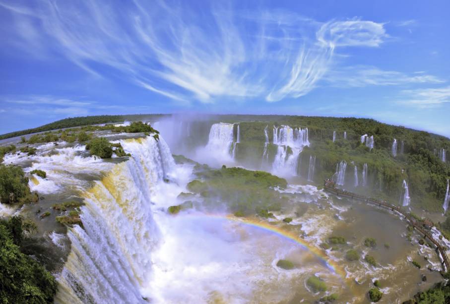
[[[329,185],[325,185],[324,190],[331,192],[333,194],[336,194],[338,196],[346,196],[346,197],[349,197],[352,199],[359,199],[361,201],[365,201],[367,203],[377,205],[379,207],[390,209],[392,211],[397,211],[399,214],[403,215],[406,218],[406,220],[411,224],[412,227],[414,227],[414,229],[419,231],[424,236],[424,239],[428,239],[428,240],[430,240],[430,242],[432,242],[436,245],[436,250],[438,253],[441,253],[441,256],[443,259],[442,267],[443,267],[444,272],[450,271],[450,261],[449,261],[449,257],[447,256],[446,249],[444,248],[444,246],[442,246],[437,240],[435,240],[433,238],[433,236],[427,231],[427,229],[424,228],[424,223],[422,221],[416,220],[413,216],[411,216],[411,214],[402,210],[399,206],[389,204],[385,201],[378,201],[376,199],[373,199],[373,198],[370,198],[367,196],[363,196],[363,195],[349,192],[349,191],[346,191],[343,189],[335,188],[335,187],[332,187]]]

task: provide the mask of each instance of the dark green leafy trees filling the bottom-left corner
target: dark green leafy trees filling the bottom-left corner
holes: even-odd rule
[[[1,303],[53,303],[55,278],[21,252],[26,233],[32,232],[30,228],[21,217],[0,220]]]

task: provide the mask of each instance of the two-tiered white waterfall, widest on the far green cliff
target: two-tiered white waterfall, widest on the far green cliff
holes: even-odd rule
[[[278,146],[272,164],[273,171],[277,174],[296,175],[300,152],[304,146],[310,144],[308,128],[292,129],[287,125],[274,126],[273,143]]]

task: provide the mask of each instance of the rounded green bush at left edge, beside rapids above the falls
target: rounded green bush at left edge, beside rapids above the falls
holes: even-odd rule
[[[23,203],[30,197],[28,178],[22,168],[0,164],[0,201],[3,204]]]

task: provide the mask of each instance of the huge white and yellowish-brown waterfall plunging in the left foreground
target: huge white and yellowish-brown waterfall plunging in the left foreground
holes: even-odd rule
[[[84,229],[67,231],[71,251],[57,279],[57,303],[146,303],[141,292],[161,237],[150,202],[175,162],[162,137],[121,144],[132,157],[83,193]]]

